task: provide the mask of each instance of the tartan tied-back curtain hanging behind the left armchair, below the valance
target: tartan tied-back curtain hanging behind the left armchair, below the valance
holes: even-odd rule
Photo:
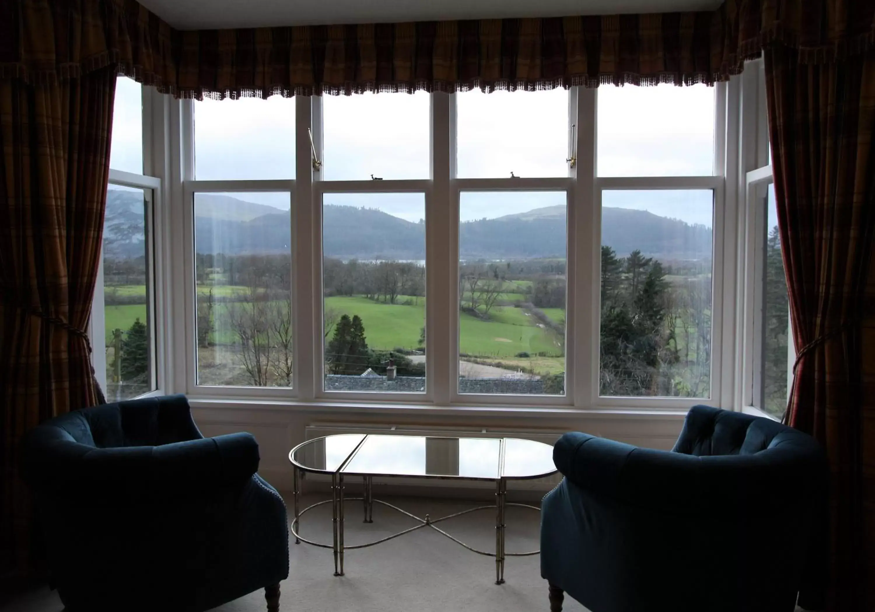
[[[20,444],[101,400],[88,319],[101,254],[116,68],[0,79],[0,577],[31,566]]]

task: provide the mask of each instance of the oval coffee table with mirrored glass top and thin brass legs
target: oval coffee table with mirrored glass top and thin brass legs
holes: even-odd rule
[[[289,461],[294,472],[295,518],[291,522],[291,533],[295,536],[295,544],[304,542],[312,546],[331,548],[334,553],[335,576],[343,575],[344,551],[381,544],[423,527],[430,527],[436,532],[442,533],[473,553],[494,557],[495,584],[504,582],[504,560],[506,557],[525,557],[540,553],[540,551],[507,553],[504,549],[504,517],[508,505],[541,511],[535,505],[507,502],[507,481],[541,478],[555,474],[553,447],[549,444],[517,438],[437,438],[422,435],[339,434],[298,444],[294,449],[291,449]],[[331,476],[332,498],[299,510],[301,472]],[[346,497],[344,495],[346,479],[352,476],[362,478],[364,488],[361,497]],[[374,476],[491,481],[495,483],[495,504],[470,508],[441,518],[430,518],[428,514],[425,515],[425,518],[420,518],[393,504],[374,499]],[[377,503],[414,518],[419,524],[374,542],[345,546],[343,522],[346,501],[349,500],[362,501],[365,523],[374,522],[372,518],[374,503]],[[314,542],[300,535],[301,515],[322,504],[332,504],[334,539],[332,544]],[[437,527],[437,523],[448,518],[459,517],[469,512],[493,509],[495,511],[494,553],[468,546],[465,542]]]

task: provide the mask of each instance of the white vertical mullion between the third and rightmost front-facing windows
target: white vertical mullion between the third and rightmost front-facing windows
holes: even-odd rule
[[[569,226],[574,233],[573,308],[566,314],[568,344],[574,352],[574,387],[566,388],[575,407],[592,407],[598,397],[598,267],[601,207],[595,190],[596,90],[577,88],[577,164]],[[566,351],[566,355],[570,351]]]

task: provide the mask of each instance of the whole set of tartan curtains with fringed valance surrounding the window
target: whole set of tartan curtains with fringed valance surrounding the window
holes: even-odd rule
[[[789,420],[830,456],[830,609],[875,608],[860,586],[875,584],[875,3],[844,0],[224,31],[175,30],[136,0],[0,2],[2,552],[17,533],[7,519],[25,525],[18,436],[97,400],[81,330],[116,70],[194,98],[685,85],[727,80],[763,49],[781,240],[804,347]]]

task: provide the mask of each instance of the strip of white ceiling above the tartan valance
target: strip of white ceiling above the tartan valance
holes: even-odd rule
[[[140,0],[181,30],[713,10],[721,0]]]

